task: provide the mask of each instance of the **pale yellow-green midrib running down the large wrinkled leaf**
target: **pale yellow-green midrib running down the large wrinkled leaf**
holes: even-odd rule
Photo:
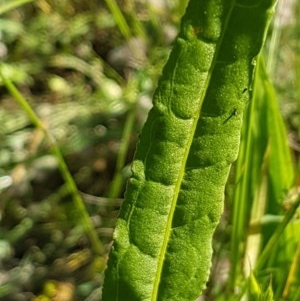
[[[161,273],[162,273],[165,254],[166,254],[166,251],[167,251],[168,242],[169,242],[169,238],[170,238],[170,233],[171,233],[171,229],[172,229],[172,221],[173,221],[173,216],[174,216],[174,213],[175,213],[175,207],[176,207],[176,204],[177,204],[177,199],[178,199],[178,195],[179,195],[180,188],[181,188],[181,183],[182,183],[182,180],[183,180],[183,177],[184,177],[184,174],[185,174],[186,162],[187,162],[187,159],[188,159],[188,156],[189,156],[189,153],[190,153],[190,149],[191,149],[191,146],[192,146],[192,143],[193,143],[193,138],[194,138],[196,128],[197,128],[197,124],[198,124],[198,121],[199,121],[199,118],[200,118],[201,107],[202,107],[207,89],[209,87],[210,80],[211,80],[211,77],[212,77],[212,74],[213,74],[213,71],[214,71],[214,68],[215,68],[215,65],[216,65],[216,61],[217,61],[217,58],[218,58],[218,55],[219,55],[219,50],[220,50],[220,47],[223,43],[224,34],[227,30],[228,22],[231,18],[232,10],[235,7],[235,5],[236,5],[236,0],[233,0],[232,5],[231,5],[231,7],[228,11],[227,17],[225,18],[224,29],[221,33],[219,43],[217,43],[217,45],[216,45],[215,54],[214,54],[214,57],[212,59],[212,63],[211,63],[211,67],[210,67],[208,75],[207,75],[207,79],[205,81],[204,89],[202,90],[202,93],[199,96],[200,99],[202,99],[201,102],[200,102],[200,106],[199,106],[199,111],[198,111],[199,113],[194,117],[194,122],[192,124],[192,130],[190,131],[190,136],[189,136],[189,139],[188,139],[187,147],[186,147],[185,152],[184,152],[182,165],[181,165],[181,168],[180,168],[180,173],[179,173],[179,176],[178,176],[178,180],[175,184],[174,194],[173,194],[173,198],[172,198],[172,202],[171,202],[171,208],[170,208],[168,219],[167,219],[166,231],[165,231],[165,235],[164,235],[164,238],[163,238],[161,251],[160,251],[160,254],[159,254],[159,257],[158,257],[157,272],[156,272],[156,277],[155,277],[155,280],[154,280],[151,301],[157,301],[159,284],[160,284],[160,279],[161,279]]]

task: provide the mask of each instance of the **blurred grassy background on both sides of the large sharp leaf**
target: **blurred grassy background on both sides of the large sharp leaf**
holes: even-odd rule
[[[0,300],[101,300],[137,135],[185,3],[0,0]],[[300,300],[299,14],[298,1],[279,1],[205,300],[246,300],[252,271],[260,295],[272,286],[274,300]]]

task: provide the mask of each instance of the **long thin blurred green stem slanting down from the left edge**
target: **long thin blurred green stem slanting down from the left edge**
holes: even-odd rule
[[[7,88],[7,90],[15,98],[15,100],[18,102],[18,104],[21,106],[21,108],[24,110],[24,112],[28,115],[29,119],[32,121],[32,123],[35,125],[35,127],[40,129],[43,132],[43,134],[45,135],[45,138],[48,141],[50,148],[51,148],[54,156],[57,159],[58,168],[63,176],[63,179],[65,180],[65,183],[70,191],[70,194],[73,196],[74,206],[75,206],[76,210],[78,211],[78,213],[80,214],[85,231],[90,238],[90,242],[91,242],[93,251],[99,255],[103,254],[104,247],[97,236],[97,233],[96,233],[96,231],[92,225],[92,222],[90,220],[90,217],[87,213],[85,204],[84,204],[84,202],[81,198],[81,195],[77,189],[77,186],[68,170],[68,167],[65,163],[63,155],[62,155],[54,137],[51,135],[51,133],[47,130],[47,128],[41,122],[39,117],[33,111],[33,109],[31,108],[29,103],[26,101],[26,99],[22,96],[22,94],[18,91],[16,86],[7,77],[5,77],[1,71],[0,71],[0,76],[2,78],[2,81],[5,85],[5,87]]]

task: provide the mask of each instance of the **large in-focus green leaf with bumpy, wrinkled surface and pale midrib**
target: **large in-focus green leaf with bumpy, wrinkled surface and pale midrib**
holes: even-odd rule
[[[194,301],[274,0],[192,0],[140,135],[104,301]]]

